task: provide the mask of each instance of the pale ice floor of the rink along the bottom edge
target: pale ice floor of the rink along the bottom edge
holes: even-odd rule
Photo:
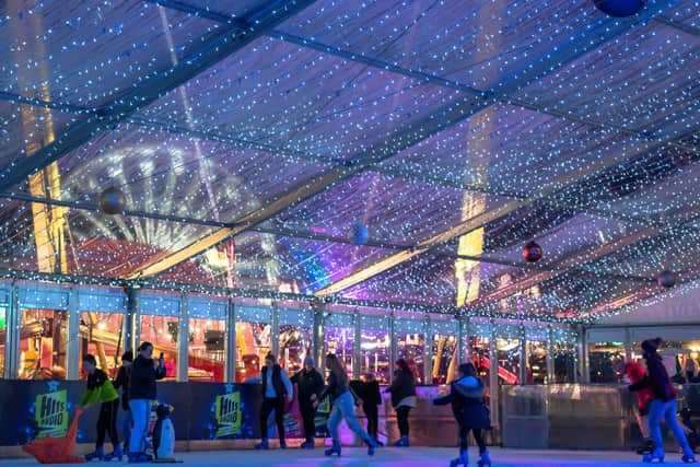
[[[434,467],[448,466],[450,459],[455,457],[456,451],[448,448],[382,448],[374,457],[368,457],[364,450],[358,447],[343,448],[340,458],[325,457],[322,448],[315,451],[271,450],[255,451],[215,451],[177,453],[176,458],[184,464],[197,467],[281,467],[281,466],[376,466],[376,467]],[[477,452],[470,451],[469,466],[476,466]],[[640,466],[641,458],[633,453],[621,452],[586,452],[586,451],[520,451],[491,450],[493,466],[525,467],[525,466]],[[126,458],[125,462],[126,464]],[[118,463],[113,462],[112,465]],[[682,465],[680,456],[668,453],[666,464]],[[38,465],[32,458],[2,459],[0,466]],[[71,464],[81,465],[85,464]],[[93,465],[105,465],[103,463]]]

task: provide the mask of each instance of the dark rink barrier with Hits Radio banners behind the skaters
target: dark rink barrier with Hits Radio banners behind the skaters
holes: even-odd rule
[[[20,455],[21,445],[47,433],[52,436],[65,435],[84,390],[83,381],[0,380],[0,457]],[[439,387],[418,388],[418,406],[409,419],[413,445],[456,445],[457,429],[450,407],[434,407],[431,404],[431,399],[444,390]],[[160,402],[175,407],[172,418],[178,451],[252,448],[260,437],[258,411],[262,398],[257,384],[159,382],[158,395]],[[398,439],[398,429],[388,397],[388,394],[383,394],[384,400],[380,407],[380,439],[393,442]],[[79,454],[92,448],[97,415],[98,407],[94,406],[81,417]],[[358,415],[362,418],[361,409],[358,409]],[[124,411],[119,410],[119,421],[124,416]],[[361,422],[364,424],[365,420]],[[269,423],[270,427],[273,424]],[[117,427],[120,427],[119,422]],[[296,407],[285,415],[285,430],[291,446],[303,441]],[[345,423],[340,433],[343,444],[360,442],[345,429]],[[319,442],[326,434],[324,411],[320,411],[317,416]],[[273,428],[268,436],[275,445],[276,441],[272,440],[277,436]],[[110,448],[109,444],[107,440],[107,448]]]

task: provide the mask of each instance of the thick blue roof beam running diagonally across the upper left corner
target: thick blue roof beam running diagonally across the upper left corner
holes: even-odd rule
[[[314,0],[276,0],[267,2],[256,12],[240,20],[244,22],[245,28],[242,28],[240,24],[222,27],[202,47],[183,58],[177,65],[144,81],[96,114],[89,115],[84,120],[70,127],[54,142],[34,154],[5,165],[0,170],[0,191],[20,184],[33,173],[46,167],[51,162],[58,161],[71,150],[90,141],[96,133],[114,127],[135,112],[186,83],[231,54],[241,50],[313,2]]]

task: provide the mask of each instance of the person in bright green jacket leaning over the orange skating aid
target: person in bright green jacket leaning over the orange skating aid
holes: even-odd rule
[[[119,410],[119,394],[112,385],[112,381],[105,372],[97,370],[97,361],[93,355],[83,358],[83,370],[88,373],[88,390],[82,399],[80,399],[80,408],[86,408],[97,401],[101,401],[100,417],[97,418],[97,441],[95,451],[85,455],[86,460],[112,460],[117,458],[121,460],[124,453],[119,444],[117,435],[117,411]],[[104,444],[105,434],[109,433],[109,439],[114,446],[112,454],[105,455]]]

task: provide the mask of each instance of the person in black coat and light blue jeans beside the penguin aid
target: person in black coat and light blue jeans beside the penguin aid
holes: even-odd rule
[[[129,441],[129,462],[150,462],[145,454],[145,435],[148,432],[151,406],[156,399],[155,381],[165,377],[163,354],[159,360],[153,358],[153,345],[141,342],[139,354],[131,364],[129,374],[129,408],[133,417],[133,430]]]

